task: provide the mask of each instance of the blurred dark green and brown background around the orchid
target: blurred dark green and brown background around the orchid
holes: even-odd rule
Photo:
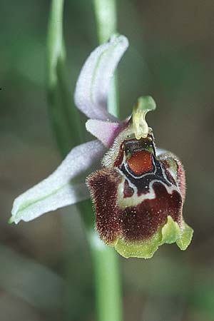
[[[60,162],[46,101],[49,6],[1,0],[2,321],[96,318],[91,258],[76,208],[7,223],[14,198]],[[213,16],[212,0],[118,1],[118,31],[130,41],[118,68],[121,118],[138,96],[155,98],[148,121],[157,145],[183,161],[184,216],[195,230],[185,252],[164,245],[151,260],[121,258],[125,321],[214,320]],[[97,46],[91,1],[66,1],[64,33],[72,99],[83,61]]]

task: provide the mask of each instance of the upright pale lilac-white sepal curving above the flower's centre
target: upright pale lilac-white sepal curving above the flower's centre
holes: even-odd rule
[[[108,88],[127,48],[128,39],[125,36],[112,36],[86,60],[76,83],[74,101],[88,118],[116,121],[107,111]]]

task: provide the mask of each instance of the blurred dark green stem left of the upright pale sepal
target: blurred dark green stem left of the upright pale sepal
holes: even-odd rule
[[[64,157],[81,142],[78,111],[72,106],[72,96],[66,78],[66,50],[63,44],[63,0],[52,0],[49,16],[46,76],[49,115],[54,135]]]

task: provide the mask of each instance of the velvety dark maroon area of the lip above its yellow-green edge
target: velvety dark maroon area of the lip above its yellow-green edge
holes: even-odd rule
[[[127,241],[151,238],[166,223],[168,215],[180,224],[183,203],[178,190],[168,193],[163,183],[154,182],[153,199],[121,209],[117,198],[119,183],[121,175],[116,169],[103,168],[88,177],[96,213],[96,229],[106,243],[111,244],[117,238]],[[131,190],[126,190],[126,193],[131,193]]]

